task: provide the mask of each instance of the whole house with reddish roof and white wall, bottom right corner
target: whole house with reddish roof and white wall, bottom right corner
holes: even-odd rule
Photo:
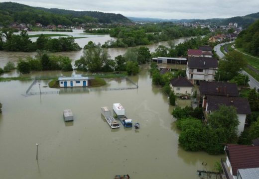
[[[259,147],[248,145],[227,144],[225,146],[226,160],[221,160],[223,172],[227,179],[238,178],[238,173],[244,173],[241,169],[259,168]],[[246,178],[246,179],[259,179]]]

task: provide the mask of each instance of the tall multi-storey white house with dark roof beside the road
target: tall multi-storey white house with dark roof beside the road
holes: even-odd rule
[[[218,60],[215,58],[188,57],[186,76],[192,84],[199,84],[200,81],[214,81],[217,69]]]

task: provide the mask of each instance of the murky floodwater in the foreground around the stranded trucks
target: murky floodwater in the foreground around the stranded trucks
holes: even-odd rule
[[[32,76],[37,75],[41,72]],[[142,69],[129,78],[138,89],[24,96],[32,81],[0,83],[0,178],[113,179],[129,174],[132,179],[198,179],[203,162],[212,171],[222,156],[179,147],[173,106],[152,86],[149,72]],[[41,82],[41,88],[46,84]],[[112,109],[118,102],[133,123],[140,123],[138,131],[112,130],[102,118],[100,107]],[[64,122],[64,109],[72,109],[74,122]]]

